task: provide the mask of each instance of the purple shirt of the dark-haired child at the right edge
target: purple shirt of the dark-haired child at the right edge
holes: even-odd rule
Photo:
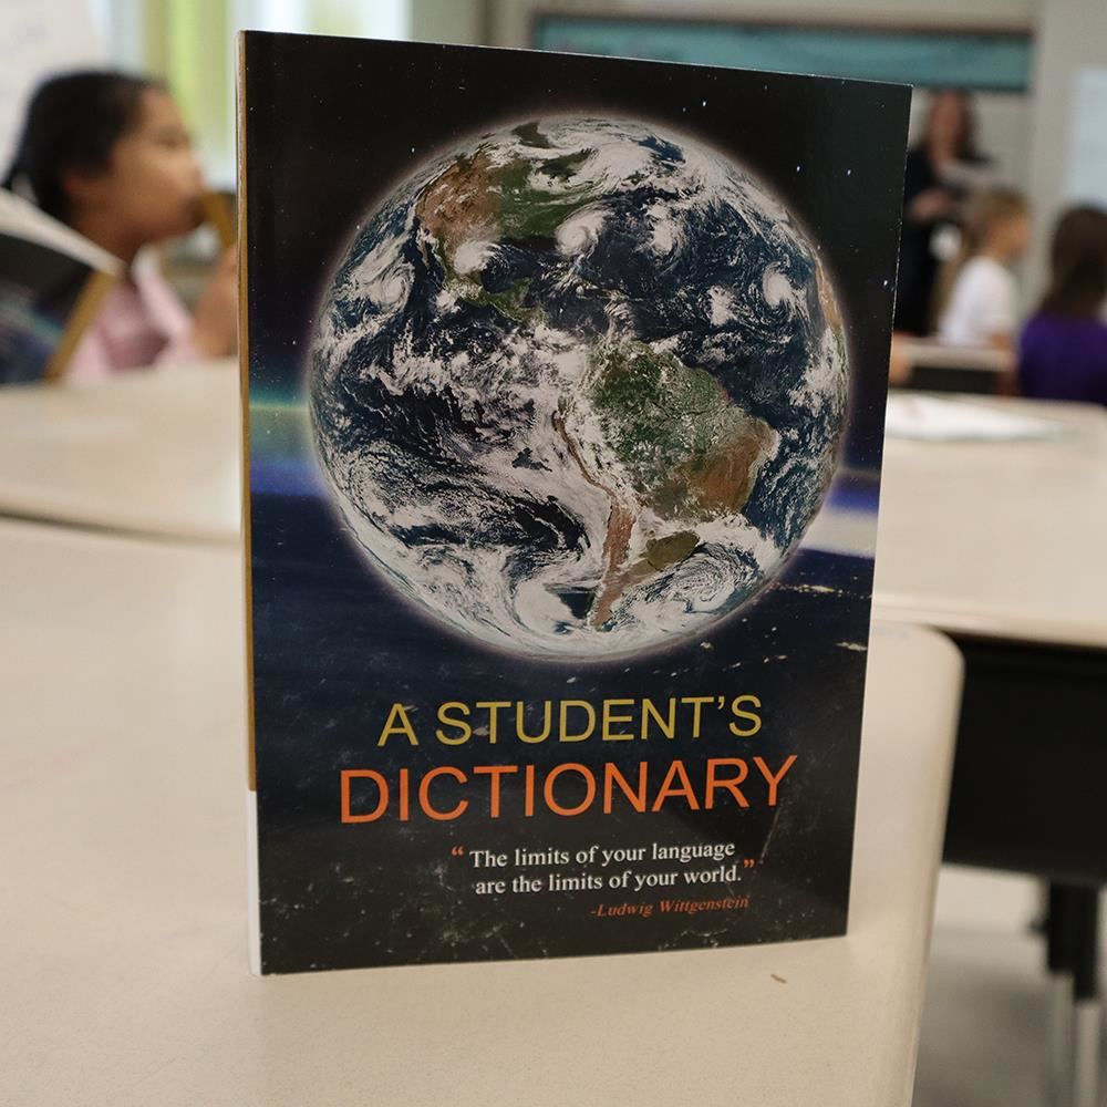
[[[1033,400],[1107,404],[1107,324],[1035,315],[1018,343],[1018,381]]]

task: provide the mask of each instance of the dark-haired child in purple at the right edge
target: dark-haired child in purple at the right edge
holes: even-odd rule
[[[1066,211],[1049,262],[1049,287],[1018,346],[1023,394],[1107,404],[1107,211]]]

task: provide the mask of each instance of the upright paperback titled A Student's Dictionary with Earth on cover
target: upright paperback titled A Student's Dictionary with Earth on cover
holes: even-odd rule
[[[255,968],[845,933],[909,91],[240,82]]]

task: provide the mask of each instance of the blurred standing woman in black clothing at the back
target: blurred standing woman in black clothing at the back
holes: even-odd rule
[[[955,235],[961,203],[987,166],[977,154],[969,94],[935,92],[921,141],[908,151],[903,179],[896,330],[930,333],[943,237]]]

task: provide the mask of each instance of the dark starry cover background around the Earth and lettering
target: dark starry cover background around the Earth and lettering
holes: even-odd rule
[[[521,51],[250,34],[245,56],[254,675],[262,966],[267,972],[758,942],[845,929],[871,592],[871,544],[805,547],[712,633],[632,660],[573,665],[483,649],[401,600],[324,498],[303,416],[315,311],[354,224],[435,152],[542,114],[629,115],[713,145],[761,176],[819,244],[844,309],[851,404],[848,503],[875,532],[909,92],[650,62]],[[433,764],[550,766],[567,747],[431,738],[386,751],[393,702],[421,734],[447,700],[754,693],[765,726],[741,742],[580,743],[575,759],[651,762],[761,754],[799,759],[775,811],[659,815],[470,813],[454,823],[339,823],[339,772],[413,775]],[[587,747],[587,748],[586,748]],[[567,789],[568,792],[568,789]],[[517,795],[505,792],[505,809]],[[486,801],[485,801],[486,803]],[[451,847],[576,849],[600,842],[736,841],[763,863],[732,889],[744,911],[597,920],[612,892],[472,893]],[[643,867],[646,871],[649,867]],[[668,868],[660,866],[659,868]],[[566,867],[558,870],[575,875]],[[514,875],[514,873],[513,873]],[[677,889],[674,889],[677,891]],[[644,894],[644,893],[643,893]],[[681,894],[687,896],[686,890]],[[627,897],[633,899],[634,897]],[[641,897],[639,897],[641,898]]]

